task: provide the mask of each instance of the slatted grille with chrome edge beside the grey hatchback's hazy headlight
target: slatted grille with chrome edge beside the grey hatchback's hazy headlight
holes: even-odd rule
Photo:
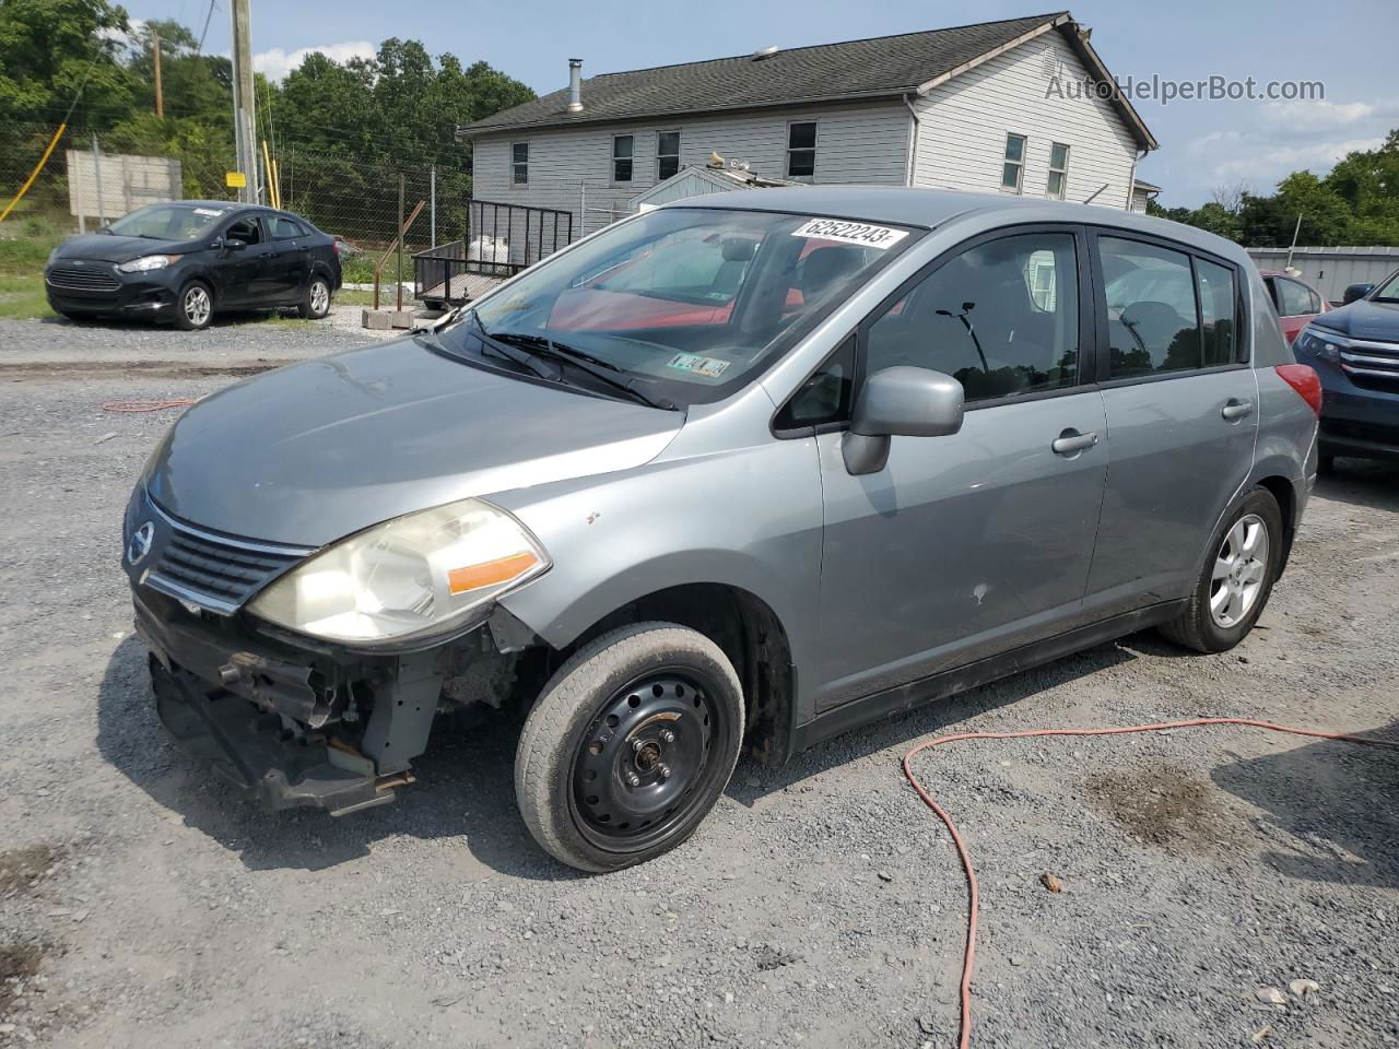
[[[145,585],[231,615],[253,594],[313,551],[255,540],[217,536],[176,520],[164,511],[166,529],[157,541]]]

